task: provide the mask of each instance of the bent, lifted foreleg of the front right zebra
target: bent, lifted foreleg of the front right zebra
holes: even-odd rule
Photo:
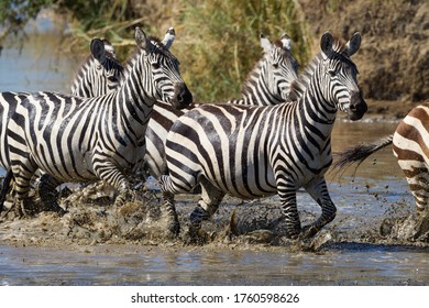
[[[306,187],[306,190],[321,208],[320,217],[314,223],[302,228],[302,238],[312,238],[326,224],[336,218],[337,207],[329,196],[324,178],[316,179],[308,187]]]

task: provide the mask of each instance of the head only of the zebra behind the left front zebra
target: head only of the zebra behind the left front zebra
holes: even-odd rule
[[[117,61],[112,44],[106,38],[94,38],[90,50],[95,59],[91,69],[92,77],[88,76],[88,78],[92,78],[89,82],[92,88],[92,96],[102,96],[116,91],[123,77],[123,66]]]

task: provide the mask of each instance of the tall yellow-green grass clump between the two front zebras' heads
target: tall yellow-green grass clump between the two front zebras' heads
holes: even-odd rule
[[[310,40],[294,0],[183,2],[175,48],[196,100],[240,96],[241,84],[262,55],[261,32],[272,41],[287,33],[298,61],[308,62]]]

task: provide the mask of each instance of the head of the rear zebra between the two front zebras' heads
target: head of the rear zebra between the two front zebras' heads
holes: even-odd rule
[[[290,92],[290,85],[297,78],[298,62],[290,53],[292,40],[287,34],[274,43],[261,33],[261,47],[264,50],[261,70],[264,84],[270,92],[282,100],[286,100]]]

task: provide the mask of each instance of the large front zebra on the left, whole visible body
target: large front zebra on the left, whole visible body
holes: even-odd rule
[[[153,105],[184,108],[193,100],[169,50],[140,28],[135,42],[139,52],[117,91],[95,98],[42,91],[16,106],[6,146],[21,208],[32,206],[28,193],[37,168],[52,177],[50,188],[103,179],[119,190],[116,207],[131,195],[125,175],[142,164]]]

